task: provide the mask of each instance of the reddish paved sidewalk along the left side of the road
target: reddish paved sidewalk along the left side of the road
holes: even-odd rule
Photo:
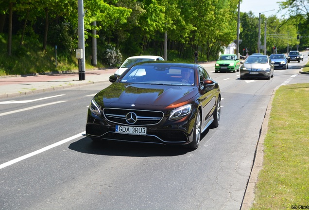
[[[72,88],[108,81],[117,69],[86,70],[85,80],[79,80],[78,71],[53,73],[51,75],[36,74],[34,76],[0,77],[0,98],[45,92],[63,88]]]

